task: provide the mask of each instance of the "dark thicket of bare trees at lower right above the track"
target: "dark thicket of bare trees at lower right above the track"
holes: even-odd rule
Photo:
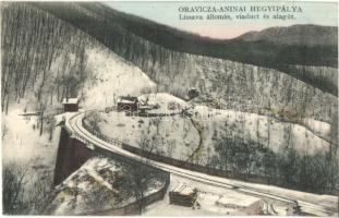
[[[293,144],[288,144],[281,153],[274,153],[267,145],[225,135],[214,149],[217,155],[208,162],[209,167],[234,174],[262,175],[265,178],[263,182],[289,189],[320,194],[337,193],[337,148],[311,155],[300,153]]]

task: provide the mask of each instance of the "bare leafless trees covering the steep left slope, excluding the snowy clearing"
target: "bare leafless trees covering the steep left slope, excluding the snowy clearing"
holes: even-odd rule
[[[1,7],[1,105],[26,98],[39,110],[77,97],[86,78],[85,47],[90,37],[25,3]],[[15,85],[14,85],[15,84]]]

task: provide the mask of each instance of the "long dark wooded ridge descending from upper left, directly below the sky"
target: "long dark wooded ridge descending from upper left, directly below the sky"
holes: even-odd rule
[[[330,46],[291,46],[267,40],[215,40],[124,14],[100,3],[35,3],[35,5],[72,23],[122,56],[125,53],[117,51],[117,46],[123,46],[124,43],[131,41],[131,39],[125,38],[128,33],[178,52],[273,68],[325,92],[334,95],[338,93],[332,81],[326,76],[318,77],[313,76],[313,74],[299,73],[289,68],[290,64],[337,68],[337,44]],[[126,46],[135,51],[135,55],[128,55],[130,56],[126,57],[128,60],[133,61],[135,56],[143,55],[143,48],[138,44],[133,43],[124,47]],[[121,48],[118,50],[121,51]],[[126,52],[129,53],[129,51]],[[157,53],[154,52],[153,56],[157,56]]]

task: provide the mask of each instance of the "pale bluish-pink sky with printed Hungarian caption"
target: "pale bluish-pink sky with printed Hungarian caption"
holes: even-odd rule
[[[105,2],[109,7],[138,15],[148,20],[156,21],[161,24],[170,25],[179,29],[184,29],[187,32],[197,33],[202,36],[209,36],[213,38],[232,38],[239,36],[249,31],[261,31],[270,26],[287,26],[293,24],[318,24],[318,25],[328,25],[337,26],[337,12],[338,4],[331,2],[169,2],[169,1],[159,1],[159,2]],[[180,7],[196,7],[196,5],[209,5],[209,7],[246,7],[249,11],[251,5],[284,5],[284,7],[301,7],[302,13],[293,13],[295,20],[282,21],[282,20],[204,20],[204,21],[187,21],[179,20],[179,8]],[[181,13],[183,14],[183,13]],[[194,13],[185,13],[194,14]],[[207,15],[208,13],[195,13],[201,15]],[[218,13],[225,14],[225,13]],[[239,12],[228,13],[235,15],[240,14]],[[242,13],[244,15],[247,12]],[[252,13],[253,14],[253,13]],[[263,14],[259,13],[261,15]],[[277,12],[266,12],[268,15],[275,15]],[[289,13],[284,13],[289,14]]]

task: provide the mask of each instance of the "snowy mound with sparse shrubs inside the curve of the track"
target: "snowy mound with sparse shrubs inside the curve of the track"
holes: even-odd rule
[[[172,95],[159,93],[138,97],[141,102],[158,108],[149,110],[150,117],[126,116],[124,112],[99,113],[99,131],[132,146],[186,160],[198,147],[199,134],[190,118],[180,112],[190,104]],[[173,109],[170,106],[175,106]],[[174,113],[174,114],[171,114]],[[93,113],[92,113],[93,116]],[[93,123],[93,117],[85,120]]]

